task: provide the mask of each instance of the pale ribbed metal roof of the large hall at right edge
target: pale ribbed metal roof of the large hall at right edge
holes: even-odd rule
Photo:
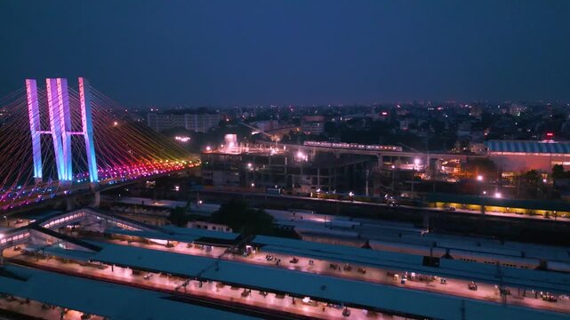
[[[570,141],[488,140],[485,145],[491,152],[570,155]]]

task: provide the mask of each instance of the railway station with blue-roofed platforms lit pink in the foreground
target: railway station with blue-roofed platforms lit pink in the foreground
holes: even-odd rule
[[[167,292],[173,300],[208,300],[230,310],[240,306],[250,310],[244,316],[267,317],[262,312],[273,310],[272,316],[339,319],[460,319],[485,314],[556,319],[570,313],[570,273],[496,263],[497,256],[489,258],[493,264],[449,259],[445,256],[451,252],[435,248],[394,252],[381,244],[371,241],[371,249],[364,249],[159,228],[81,209],[4,231],[3,276],[12,275],[11,268],[23,268],[42,275],[84,277],[96,284]],[[74,306],[72,297],[54,301],[5,291],[91,313]]]

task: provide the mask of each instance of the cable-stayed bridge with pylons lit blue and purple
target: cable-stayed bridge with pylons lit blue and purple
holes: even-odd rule
[[[0,99],[0,211],[199,164],[83,77],[25,84]]]

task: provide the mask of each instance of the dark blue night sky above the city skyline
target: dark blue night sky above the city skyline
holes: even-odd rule
[[[0,97],[48,76],[142,107],[570,100],[570,1],[3,0]]]

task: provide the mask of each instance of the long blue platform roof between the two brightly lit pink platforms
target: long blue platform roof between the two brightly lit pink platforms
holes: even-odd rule
[[[395,286],[322,276],[307,272],[272,268],[243,262],[217,260],[174,252],[164,252],[116,244],[105,244],[93,260],[176,276],[219,281],[243,287],[309,296],[316,300],[340,302],[357,308],[376,308],[399,314],[446,319],[462,318],[565,318],[566,315],[482,300],[460,299],[432,292],[406,290]]]

